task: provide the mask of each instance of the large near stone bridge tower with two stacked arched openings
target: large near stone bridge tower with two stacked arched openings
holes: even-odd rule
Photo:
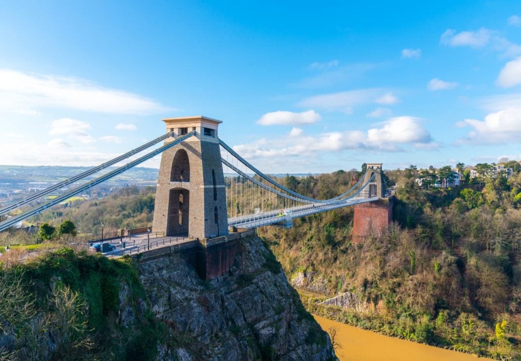
[[[163,119],[175,137],[195,135],[163,152],[154,209],[154,232],[205,239],[228,234],[226,189],[217,128],[203,116]]]

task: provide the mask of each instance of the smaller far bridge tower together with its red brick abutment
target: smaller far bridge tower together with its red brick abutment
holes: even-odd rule
[[[383,182],[382,163],[367,163],[364,183],[373,174],[374,182],[369,183],[369,198],[379,200],[356,204],[353,220],[353,243],[360,243],[365,237],[381,234],[392,221],[393,198],[386,198],[386,185]]]

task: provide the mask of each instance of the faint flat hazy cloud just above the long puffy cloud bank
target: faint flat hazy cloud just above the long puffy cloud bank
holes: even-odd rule
[[[383,89],[358,89],[339,93],[314,95],[303,99],[297,105],[315,107],[328,111],[352,113],[353,107],[360,104],[394,104],[398,101],[392,93]]]

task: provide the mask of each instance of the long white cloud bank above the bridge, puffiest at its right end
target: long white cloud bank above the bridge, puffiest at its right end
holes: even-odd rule
[[[247,159],[270,157],[313,157],[320,152],[338,152],[346,149],[373,151],[403,151],[402,146],[431,147],[430,133],[420,124],[420,119],[410,116],[394,117],[380,128],[367,131],[348,130],[321,133],[314,136],[298,135],[283,138],[259,139],[237,145],[235,151]],[[293,130],[292,130],[293,131]],[[291,158],[292,160],[294,158]]]

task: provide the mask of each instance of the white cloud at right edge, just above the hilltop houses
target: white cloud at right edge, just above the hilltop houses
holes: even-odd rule
[[[456,123],[458,127],[472,127],[467,137],[458,142],[501,143],[521,139],[521,108],[510,108],[493,112],[483,121],[464,119]]]

